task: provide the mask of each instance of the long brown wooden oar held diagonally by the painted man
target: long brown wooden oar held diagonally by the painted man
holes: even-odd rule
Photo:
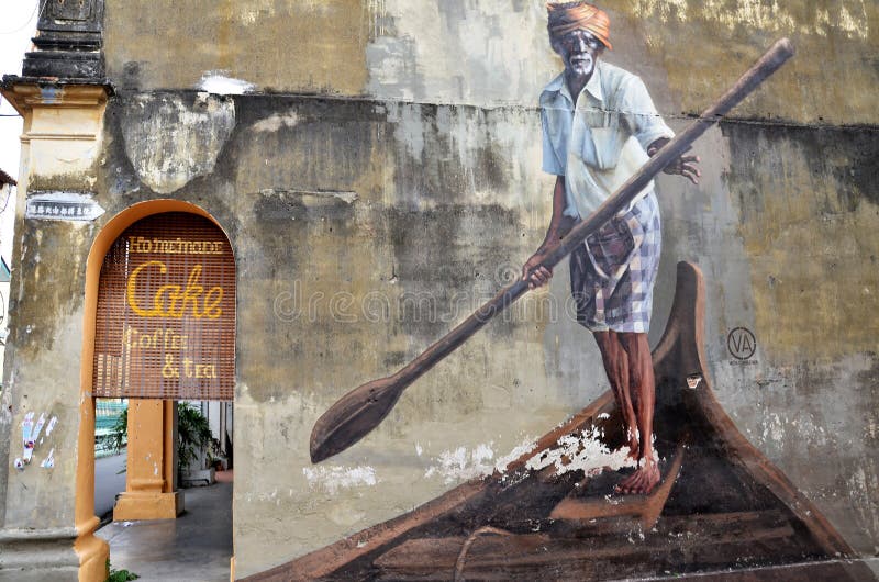
[[[687,130],[663,146],[596,212],[552,247],[542,265],[549,268],[555,267],[577,245],[582,244],[587,236],[625,208],[663,168],[683,154],[705,130],[720,121],[792,56],[793,45],[789,40],[781,38],[772,45],[716,103],[702,113]],[[396,374],[372,380],[340,399],[314,423],[311,432],[311,461],[320,462],[332,457],[369,434],[385,419],[409,384],[452,354],[489,320],[525,294],[527,290],[527,282],[523,280],[508,286]]]

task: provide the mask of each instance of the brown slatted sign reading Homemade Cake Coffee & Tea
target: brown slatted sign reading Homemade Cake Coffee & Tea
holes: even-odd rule
[[[194,214],[130,226],[101,268],[93,395],[232,400],[235,260],[223,232]]]

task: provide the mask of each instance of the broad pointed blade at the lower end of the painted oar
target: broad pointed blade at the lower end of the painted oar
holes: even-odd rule
[[[393,378],[372,380],[333,404],[311,430],[311,462],[342,452],[385,419],[405,385]]]

